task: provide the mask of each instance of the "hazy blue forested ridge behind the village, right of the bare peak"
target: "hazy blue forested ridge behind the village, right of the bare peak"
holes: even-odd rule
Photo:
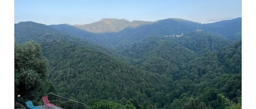
[[[118,50],[126,49],[132,44],[141,41],[147,36],[154,35],[181,35],[196,30],[200,23],[168,18],[159,20],[151,24],[142,25],[137,28],[126,28],[116,33],[114,41],[115,48]]]

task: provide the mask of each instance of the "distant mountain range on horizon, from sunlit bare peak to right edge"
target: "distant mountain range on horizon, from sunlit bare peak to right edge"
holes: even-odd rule
[[[106,22],[111,22],[111,23],[106,23]],[[90,37],[90,38],[87,37],[88,32],[83,33],[81,31],[81,27],[78,27],[78,26],[75,26],[77,27],[76,28],[77,31],[70,31],[67,29],[65,30],[63,28],[57,28],[57,29],[66,31],[70,34],[79,35],[80,37],[85,37],[85,39],[90,42],[102,44],[103,46],[109,47],[111,49],[116,49],[118,51],[132,46],[132,44],[143,40],[147,36],[181,35],[181,34],[190,33],[192,31],[203,31],[207,34],[221,36],[231,41],[241,40],[241,18],[236,18],[234,20],[220,21],[220,22],[210,23],[210,24],[200,24],[197,22],[182,20],[179,18],[168,18],[165,20],[158,20],[155,22],[145,22],[145,21],[129,22],[127,20],[104,19],[102,21],[95,22],[92,24],[93,25],[87,25],[87,26],[92,27],[98,31],[101,31],[100,28],[104,27],[102,26],[104,24],[108,24],[108,26],[111,25],[112,27],[116,25],[117,27],[120,27],[120,29],[114,33],[113,32],[111,33],[110,31],[108,31],[108,33],[106,33],[105,31],[97,34],[92,32],[91,34],[94,34],[94,35],[93,37]],[[56,26],[62,26],[62,25],[56,25]],[[104,28],[108,29],[108,27],[104,27]],[[79,33],[83,33],[83,34],[79,34]]]

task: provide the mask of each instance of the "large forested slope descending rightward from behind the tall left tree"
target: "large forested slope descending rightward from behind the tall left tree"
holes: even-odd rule
[[[147,90],[164,93],[170,79],[118,60],[100,47],[35,22],[15,24],[15,43],[36,41],[49,61],[49,79],[57,92],[85,102],[91,99],[142,98]],[[142,97],[141,97],[142,96]]]

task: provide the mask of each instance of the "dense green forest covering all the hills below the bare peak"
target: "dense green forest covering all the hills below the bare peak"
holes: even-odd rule
[[[222,24],[217,22],[215,30]],[[93,34],[70,25],[61,30],[17,23],[15,93],[55,92],[89,108],[241,108],[241,35],[234,40],[195,31],[202,25],[179,19],[153,25]],[[91,41],[95,39],[100,40]],[[126,46],[118,48],[123,41]],[[22,74],[32,74],[38,78],[35,83],[45,81],[51,88],[38,89],[44,84],[32,85],[32,80],[23,83],[20,77],[28,75]]]

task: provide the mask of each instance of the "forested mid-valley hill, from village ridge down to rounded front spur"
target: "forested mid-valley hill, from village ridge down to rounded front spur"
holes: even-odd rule
[[[231,41],[203,31],[170,36],[148,36],[122,51],[135,66],[154,73],[177,72],[195,57],[209,52],[218,52]]]

